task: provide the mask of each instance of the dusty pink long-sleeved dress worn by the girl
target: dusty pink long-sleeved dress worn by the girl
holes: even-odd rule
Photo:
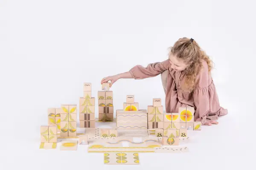
[[[134,79],[155,77],[165,70],[169,70],[166,87],[166,113],[178,113],[179,107],[194,107],[195,121],[202,125],[209,120],[217,120],[218,116],[226,115],[227,109],[220,106],[218,94],[212,76],[208,72],[207,62],[202,61],[203,68],[195,80],[195,89],[192,92],[181,87],[185,79],[183,71],[174,71],[170,67],[169,59],[163,62],[149,64],[146,68],[136,65],[129,71]]]

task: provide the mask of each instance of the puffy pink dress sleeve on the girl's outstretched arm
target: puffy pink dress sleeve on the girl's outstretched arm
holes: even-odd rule
[[[129,72],[134,79],[145,79],[148,77],[155,77],[158,74],[161,74],[163,71],[168,70],[169,66],[169,59],[166,59],[163,62],[148,64],[147,67],[143,67],[142,65],[136,65],[131,68]]]

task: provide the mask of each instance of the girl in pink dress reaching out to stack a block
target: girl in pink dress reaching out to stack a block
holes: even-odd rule
[[[212,61],[192,38],[180,38],[170,48],[169,59],[136,65],[130,71],[102,79],[101,83],[118,79],[145,79],[161,74],[166,94],[166,113],[177,113],[179,107],[194,107],[195,121],[202,125],[218,124],[218,116],[227,114],[220,106],[211,77]]]

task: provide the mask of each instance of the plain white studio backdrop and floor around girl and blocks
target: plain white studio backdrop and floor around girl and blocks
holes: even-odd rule
[[[0,0],[1,169],[246,168],[255,158],[255,4],[250,0]],[[83,82],[97,96],[103,77],[167,59],[181,37],[213,59],[229,114],[193,133],[186,154],[140,154],[140,165],[104,165],[101,153],[39,150],[47,108],[79,105]],[[134,94],[140,109],[163,92],[160,76],[121,79],[114,109]],[[96,100],[97,104],[97,100]],[[164,102],[163,102],[164,106]],[[96,107],[96,111],[97,107]],[[253,156],[254,155],[254,156]],[[122,167],[121,167],[122,166]],[[132,167],[131,167],[132,166]]]

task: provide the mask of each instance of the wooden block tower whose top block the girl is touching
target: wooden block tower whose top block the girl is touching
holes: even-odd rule
[[[102,90],[98,91],[99,120],[113,121],[113,91],[109,91],[110,83],[102,83]]]

